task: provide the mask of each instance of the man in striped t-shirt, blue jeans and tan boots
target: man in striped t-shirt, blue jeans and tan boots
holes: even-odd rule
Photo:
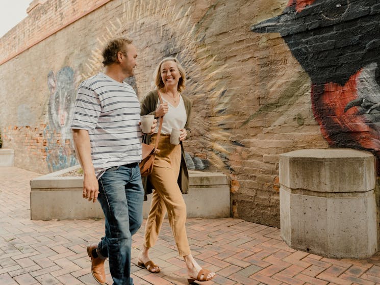
[[[114,285],[131,285],[132,235],[142,223],[144,190],[141,161],[140,103],[124,83],[132,76],[137,51],[124,37],[103,50],[105,71],[84,81],[75,101],[71,124],[78,159],[84,171],[83,197],[102,205],[106,235],[87,247],[91,272],[106,282],[104,262],[109,258]],[[155,120],[152,132],[157,125]]]

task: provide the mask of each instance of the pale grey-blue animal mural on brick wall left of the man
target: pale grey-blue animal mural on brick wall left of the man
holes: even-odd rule
[[[60,69],[57,74],[50,71],[47,85],[50,94],[49,124],[44,131],[47,139],[46,162],[50,171],[57,171],[78,163],[70,129],[76,96],[74,71],[68,66]]]

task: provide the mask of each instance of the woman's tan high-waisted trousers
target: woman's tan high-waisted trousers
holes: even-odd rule
[[[156,135],[150,144],[156,143]],[[152,194],[150,212],[145,225],[144,246],[150,248],[156,244],[166,213],[173,231],[180,256],[190,254],[186,235],[186,204],[177,178],[181,166],[181,145],[170,143],[170,135],[161,135],[150,182],[155,189]]]

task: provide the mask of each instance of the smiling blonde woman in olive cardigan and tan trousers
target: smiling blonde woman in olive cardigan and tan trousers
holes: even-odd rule
[[[180,92],[185,88],[186,74],[180,62],[175,58],[165,58],[155,72],[156,90],[148,92],[141,102],[141,115],[155,115],[157,125],[163,120],[159,139],[159,152],[155,166],[145,183],[146,193],[152,193],[149,216],[145,225],[144,244],[138,257],[138,265],[153,273],[160,268],[149,258],[149,249],[158,239],[159,231],[168,214],[170,226],[178,252],[184,257],[188,269],[188,281],[208,281],[215,273],[202,269],[190,252],[186,235],[186,204],[182,193],[187,193],[189,176],[185,163],[182,142],[190,137],[190,115],[192,103]],[[159,94],[163,100],[160,103]],[[180,129],[180,144],[170,143],[171,129]],[[151,137],[145,136],[144,142],[155,144],[158,127]],[[181,193],[182,192],[182,193]]]

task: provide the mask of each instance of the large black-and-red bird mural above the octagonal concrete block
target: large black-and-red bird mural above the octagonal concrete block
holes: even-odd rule
[[[290,0],[280,16],[251,27],[280,33],[310,76],[315,119],[333,147],[380,158],[380,4]]]

